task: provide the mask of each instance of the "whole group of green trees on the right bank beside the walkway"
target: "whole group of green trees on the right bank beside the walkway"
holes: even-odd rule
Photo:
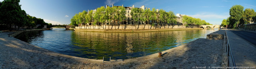
[[[222,20],[222,26],[238,28],[240,25],[256,22],[256,12],[253,9],[246,8],[241,5],[234,5],[230,8],[230,17]]]

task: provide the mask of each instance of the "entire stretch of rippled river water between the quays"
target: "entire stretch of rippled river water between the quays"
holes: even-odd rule
[[[15,38],[70,56],[90,59],[103,57],[129,59],[162,52],[198,38],[206,38],[207,34],[215,31],[218,29],[108,33],[54,28],[46,31],[24,32]]]

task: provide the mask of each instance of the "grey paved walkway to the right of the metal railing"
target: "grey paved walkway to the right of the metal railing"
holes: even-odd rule
[[[256,48],[240,36],[226,30],[236,66],[256,67]]]

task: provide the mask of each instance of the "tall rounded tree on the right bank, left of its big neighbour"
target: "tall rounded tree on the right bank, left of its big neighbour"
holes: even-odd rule
[[[230,19],[234,20],[235,23],[230,23],[233,25],[233,27],[238,27],[240,23],[240,19],[242,18],[242,15],[244,14],[244,7],[241,5],[234,5],[230,8]]]

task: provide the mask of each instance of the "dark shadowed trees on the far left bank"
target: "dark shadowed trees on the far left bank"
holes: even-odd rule
[[[21,9],[19,4],[20,0],[4,0],[0,2],[0,24],[8,25],[11,30],[11,26],[33,28],[36,25],[41,25],[38,28],[42,28],[43,25],[49,25],[45,23],[43,19],[32,17],[27,15],[26,11]],[[2,28],[2,27],[1,27]]]

